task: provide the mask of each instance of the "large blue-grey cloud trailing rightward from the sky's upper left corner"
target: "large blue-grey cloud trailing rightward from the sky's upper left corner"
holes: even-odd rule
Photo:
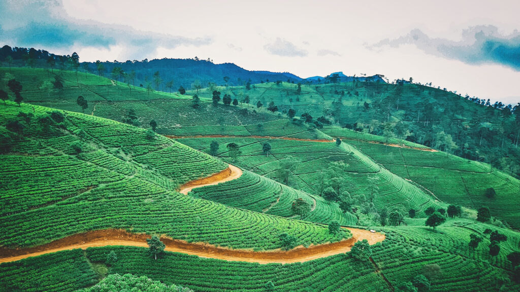
[[[137,31],[126,25],[108,25],[67,16],[59,1],[0,1],[0,42],[11,46],[44,49],[76,47],[125,48],[124,58],[154,56],[159,47],[202,46],[211,37],[189,38]]]

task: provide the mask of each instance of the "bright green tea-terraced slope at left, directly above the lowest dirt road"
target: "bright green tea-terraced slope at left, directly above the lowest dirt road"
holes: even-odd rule
[[[177,193],[181,183],[226,164],[165,137],[147,137],[144,129],[28,104],[8,102],[0,111],[2,137],[10,137],[0,176],[4,246],[39,245],[109,228],[255,249],[280,248],[283,232],[305,245],[348,237],[346,231],[331,235],[318,225]],[[20,112],[34,116],[26,121]],[[12,122],[23,129],[7,130]]]

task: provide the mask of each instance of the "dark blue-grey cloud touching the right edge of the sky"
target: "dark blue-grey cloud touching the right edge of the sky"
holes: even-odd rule
[[[427,54],[456,59],[468,64],[496,63],[520,71],[520,32],[502,35],[496,26],[472,26],[460,41],[432,38],[419,29],[396,39],[383,39],[369,48],[414,44]]]

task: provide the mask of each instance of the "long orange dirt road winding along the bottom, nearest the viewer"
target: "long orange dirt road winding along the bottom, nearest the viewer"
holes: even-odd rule
[[[228,249],[203,243],[187,243],[185,241],[174,240],[168,237],[161,237],[161,241],[166,245],[166,251],[175,251],[177,253],[195,255],[203,258],[257,263],[294,263],[346,253],[347,251],[350,251],[350,248],[358,240],[367,239],[370,244],[375,244],[382,242],[385,239],[385,235],[381,233],[372,233],[368,230],[356,228],[347,229],[353,234],[353,237],[348,240],[310,246],[308,248],[298,246],[289,251]],[[75,248],[85,249],[87,247],[109,245],[148,247],[146,243],[147,238],[150,238],[150,235],[128,233],[124,230],[108,229],[89,231],[86,233],[74,234],[32,248],[8,249],[0,247],[0,263],[17,261],[28,257],[40,256],[55,253],[60,250],[70,250]]]

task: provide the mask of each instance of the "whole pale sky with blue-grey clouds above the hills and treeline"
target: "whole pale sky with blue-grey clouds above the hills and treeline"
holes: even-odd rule
[[[211,58],[300,77],[383,74],[520,102],[520,1],[0,0],[0,45],[80,61]]]

